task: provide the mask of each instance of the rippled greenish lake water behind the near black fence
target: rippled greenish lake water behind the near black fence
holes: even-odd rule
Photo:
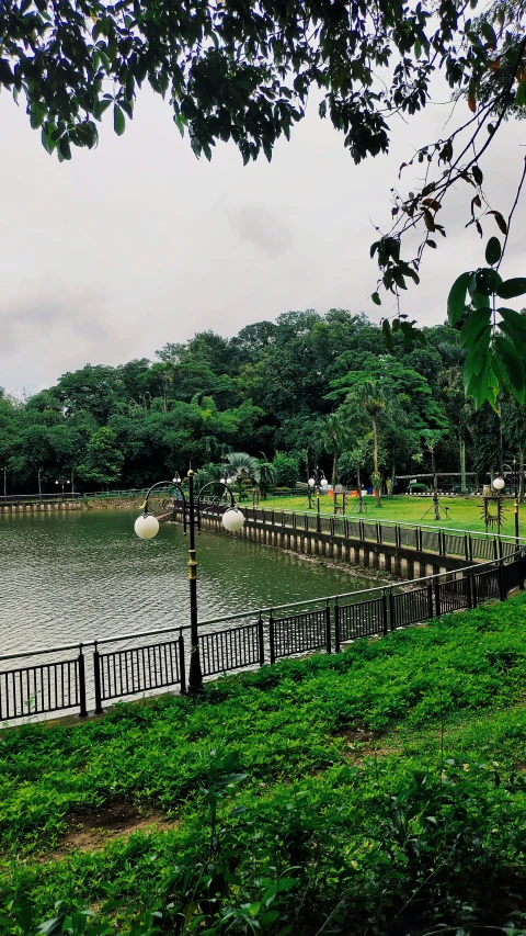
[[[188,540],[138,511],[0,516],[0,654],[187,624]],[[378,585],[248,540],[197,538],[199,620]]]

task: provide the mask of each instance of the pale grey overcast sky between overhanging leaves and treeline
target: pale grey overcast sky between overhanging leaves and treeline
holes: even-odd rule
[[[289,309],[392,314],[368,298],[373,224],[388,227],[399,165],[445,135],[448,114],[434,106],[399,121],[391,154],[355,167],[312,103],[270,165],[243,167],[233,145],[218,145],[211,163],[197,160],[168,104],[145,90],[123,137],[106,120],[96,150],[72,147],[71,162],[60,165],[24,108],[2,94],[0,385],[32,393],[88,361],[152,358],[196,330],[232,336]],[[507,215],[526,124],[499,137],[482,167],[493,207]],[[447,240],[437,237],[422,284],[404,295],[402,311],[421,324],[443,322],[453,280],[482,262],[480,240],[464,230],[469,199],[462,183],[441,213]],[[523,201],[505,278],[525,275],[524,217]],[[489,221],[484,233],[499,234]]]

